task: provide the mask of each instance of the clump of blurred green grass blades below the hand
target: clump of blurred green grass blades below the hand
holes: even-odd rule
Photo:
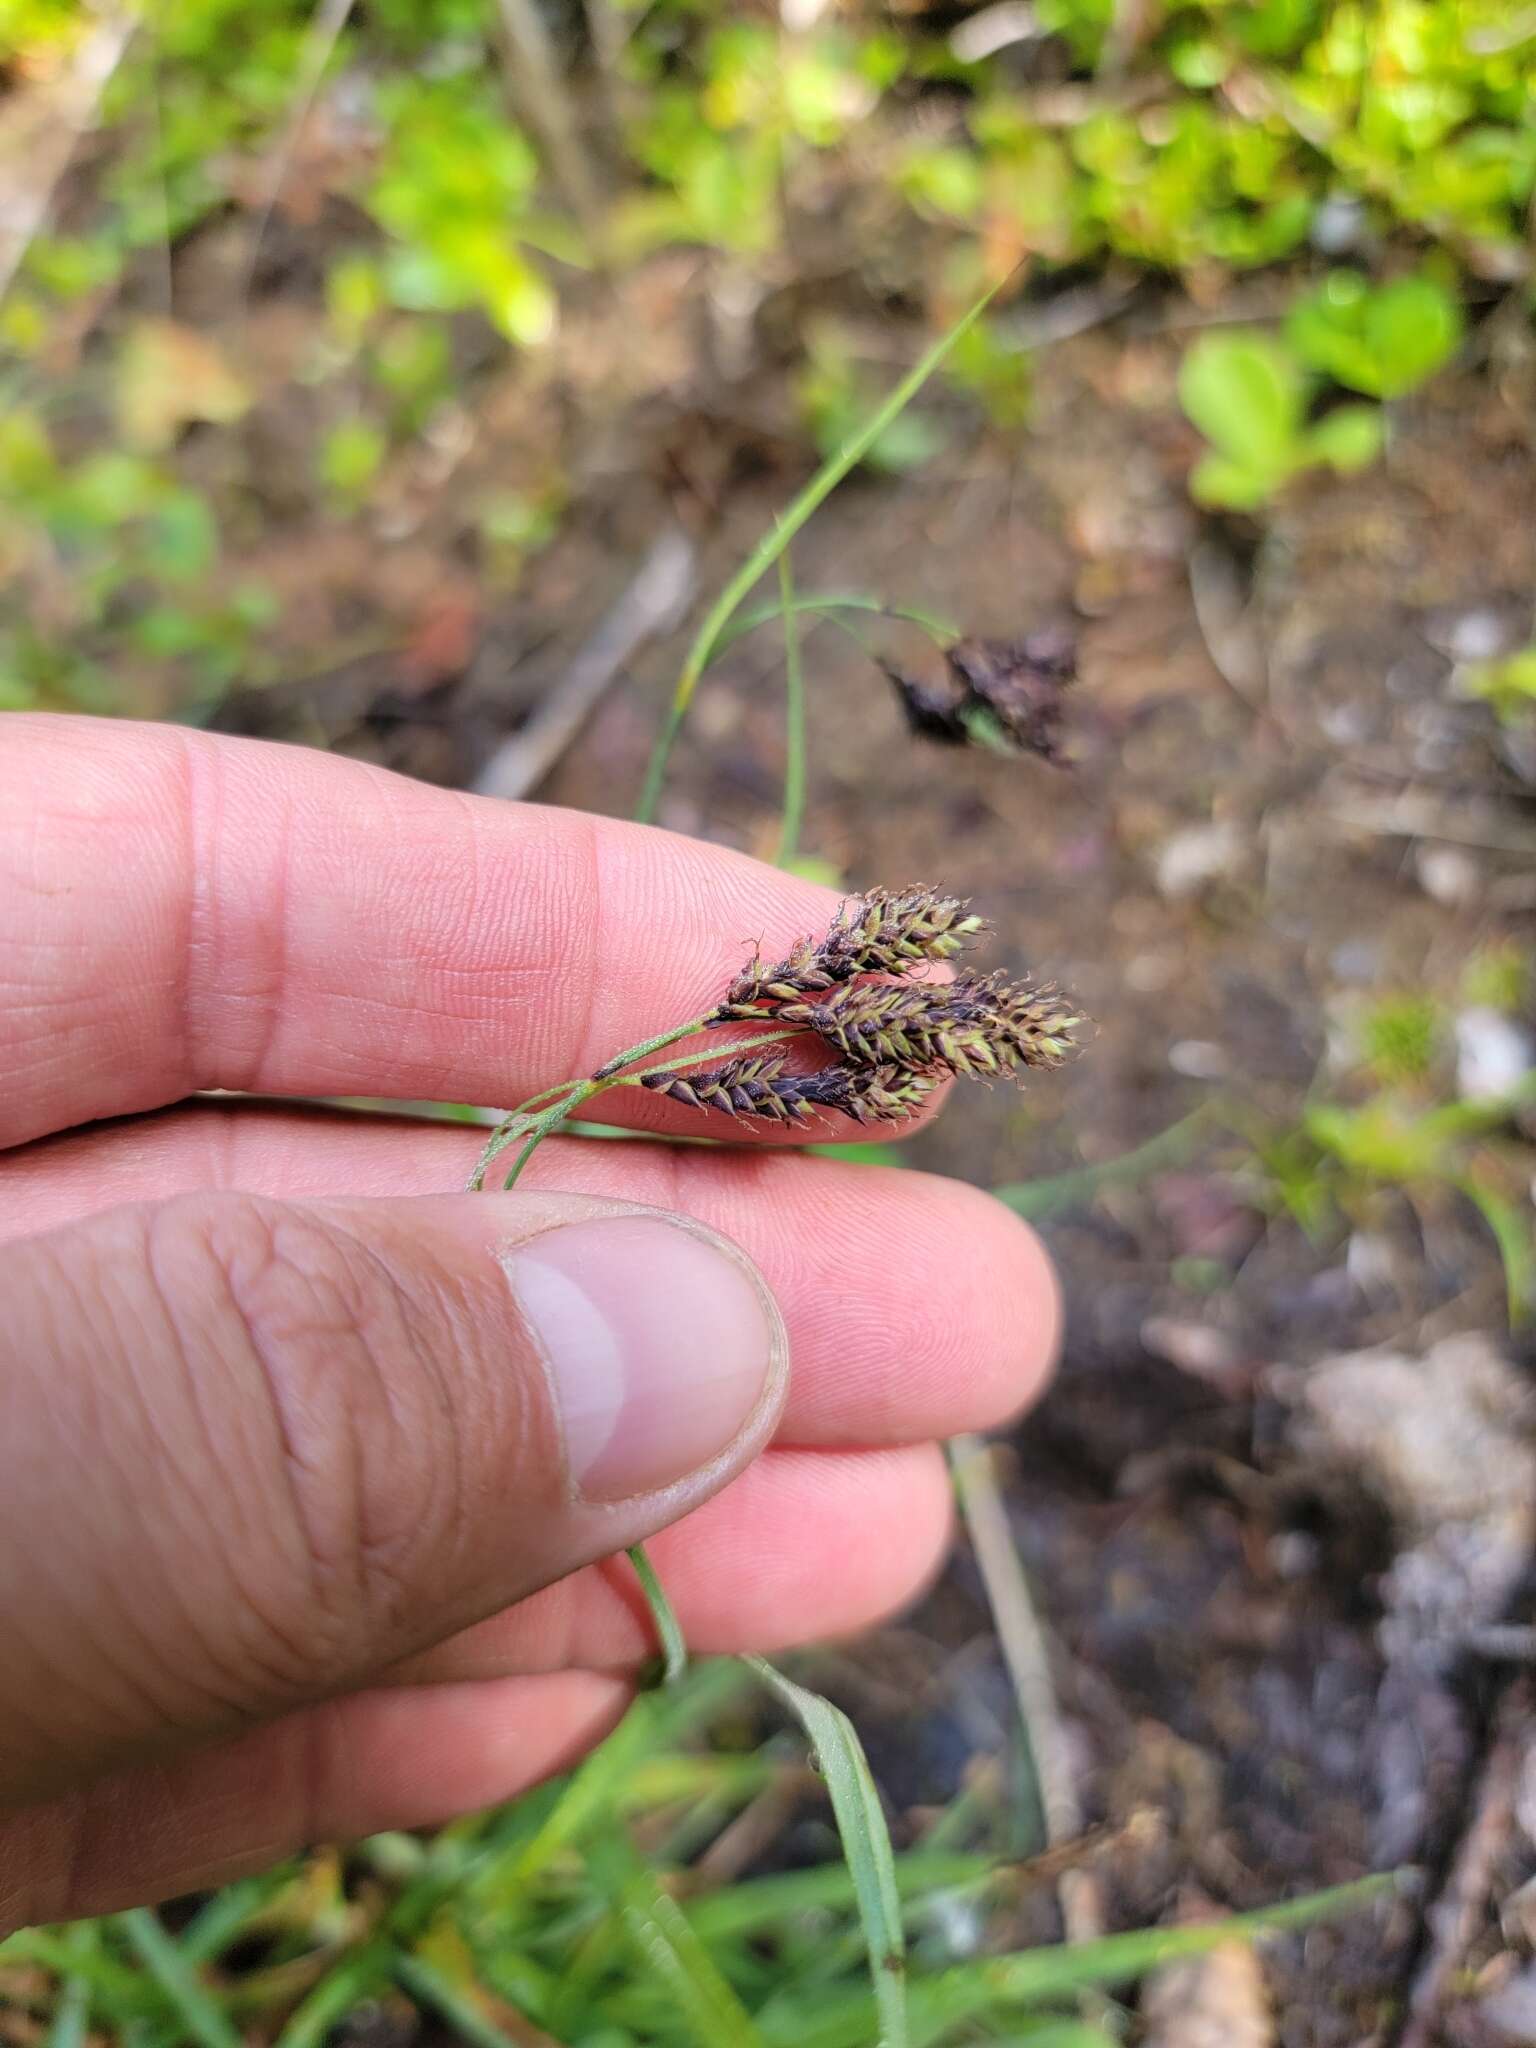
[[[70,2040],[154,2048],[319,2048],[346,2038],[352,2013],[393,2032],[412,2007],[432,2032],[485,2048],[864,2048],[874,2011],[846,1866],[700,1868],[768,1798],[799,1794],[817,1835],[803,1765],[760,1726],[741,1679],[735,1659],[694,1665],[643,1696],[580,1769],[516,1804],[240,1880],[174,1933],[135,1911],[12,1935],[0,1999],[39,2038],[53,2013],[51,2040],[68,2025]],[[1108,2048],[1073,2017],[1077,1993],[1360,1911],[1391,1888],[1378,1878],[1206,1925],[971,1956],[981,1915],[1032,1880],[1006,1860],[1004,1804],[963,1790],[899,1860],[911,2048]]]

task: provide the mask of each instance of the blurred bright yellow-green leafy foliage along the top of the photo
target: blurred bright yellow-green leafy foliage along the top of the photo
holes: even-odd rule
[[[84,0],[0,0],[0,109],[6,84],[68,76],[96,18]],[[358,0],[340,27],[313,0],[145,0],[100,135],[0,301],[0,403],[18,446],[49,449],[0,483],[6,700],[111,698],[106,664],[143,678],[125,707],[195,709],[260,674],[260,604],[207,596],[268,516],[252,430],[301,403],[303,516],[362,518],[389,455],[457,399],[465,352],[483,369],[522,352],[541,375],[594,262],[686,246],[760,291],[795,274],[827,215],[872,305],[915,295],[944,322],[1018,264],[1026,281],[1133,264],[1210,299],[1229,272],[1331,258],[1280,334],[1206,336],[1186,365],[1210,440],[1194,492],[1247,510],[1374,457],[1382,420],[1331,387],[1399,399],[1456,350],[1468,287],[1526,289],[1536,16],[1507,0],[1171,0],[1135,33],[1110,0],[1040,0],[1012,41],[981,37],[999,47],[975,23],[848,8],[786,29],[723,0],[551,18],[594,217],[543,162],[549,92],[530,100],[508,63],[496,0]],[[141,309],[174,307],[178,252],[229,225],[225,297],[209,309],[205,291],[193,319],[203,406],[162,408],[158,440],[135,438],[133,348],[139,387],[182,381],[164,334],[145,354]],[[319,311],[276,373],[238,342],[242,303],[270,289]],[[801,418],[821,451],[883,375],[852,332],[803,328]],[[1028,422],[1028,354],[999,324],[967,336],[946,381],[995,428]],[[207,436],[227,451],[186,465]],[[940,436],[940,414],[905,416],[870,461],[911,469]],[[125,451],[158,481],[139,475],[119,547],[80,506]],[[473,508],[463,524],[506,567]],[[1518,670],[1489,694],[1518,713]]]

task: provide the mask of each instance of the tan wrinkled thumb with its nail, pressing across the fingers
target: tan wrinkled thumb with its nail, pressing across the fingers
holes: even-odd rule
[[[186,1196],[0,1247],[0,1804],[344,1690],[772,1432],[725,1239],[571,1194]]]

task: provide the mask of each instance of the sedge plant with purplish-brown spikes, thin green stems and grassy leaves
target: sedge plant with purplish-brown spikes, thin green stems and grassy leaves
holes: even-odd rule
[[[956,635],[924,612],[864,594],[795,592],[793,535],[909,403],[981,315],[987,297],[934,344],[885,406],[811,479],[711,608],[684,664],[647,776],[649,817],[672,743],[711,662],[741,633],[772,621],[786,641],[788,776],[778,858],[797,858],[805,805],[805,676],[797,621],[881,612],[909,618],[940,645]],[[778,569],[776,602],[743,610]],[[616,1087],[670,1096],[719,1118],[809,1126],[842,1116],[901,1122],[950,1077],[1020,1079],[1055,1067],[1081,1018],[1055,989],[977,975],[963,954],[983,920],[934,889],[877,889],[848,901],[831,926],[784,958],[743,965],[705,1010],[627,1047],[594,1073],[561,1081],[510,1110],[492,1130],[469,1186],[492,1167],[504,1186],[559,1128],[592,1128],[580,1112]],[[657,1057],[666,1055],[666,1057]],[[1190,1126],[1157,1141],[1192,1139]],[[516,1147],[516,1151],[514,1151]],[[1153,1159],[1130,1155],[1061,1184],[999,1190],[1024,1214],[1090,1194],[1098,1171],[1126,1178]],[[500,1161],[514,1153],[510,1169]],[[1110,2036],[1063,2001],[1133,1982],[1176,1956],[1233,1937],[1300,1927],[1364,1907],[1391,1878],[1339,1886],[1266,1913],[1194,1927],[1108,1935],[1016,1956],[979,1956],[907,1985],[907,1933],[924,1901],[977,1898],[1028,1872],[993,1853],[940,1847],[987,1817],[961,1794],[924,1849],[893,1855],[868,1763],[848,1716],[756,1657],[688,1665],[666,1591],[643,1548],[631,1552],[655,1618],[666,1683],[643,1692],[625,1722],[567,1780],[506,1808],[471,1815],[428,1839],[381,1835],[358,1851],[373,1898],[362,1923],[328,1853],[213,1892],[176,1931],[158,1915],[125,1913],[74,1929],[27,1929],[0,1944],[0,1999],[49,2042],[78,2044],[102,2028],[143,2048],[322,2048],[356,2007],[403,1993],[457,2038],[487,2048],[522,2042],[614,2040],[696,2048],[922,2048],[975,2038],[1040,2048],[1108,2048]],[[807,1731],[842,1835],[846,1864],[827,1864],[692,1892],[688,1843],[764,1794],[782,1767],[772,1747],[698,1753],[688,1737],[750,1681]],[[967,1810],[963,1810],[967,1808]],[[641,1860],[621,1825],[645,1821]],[[666,1823],[668,1833],[655,1829]],[[1053,1851],[1059,1853],[1059,1851]],[[856,1913],[868,1987],[827,1976],[825,1915]],[[803,1923],[803,1927],[801,1927]],[[797,1931],[799,1929],[799,1931]],[[256,1942],[268,1962],[223,1974]],[[772,1942],[772,1956],[764,1944]],[[834,1944],[836,1948],[836,1944]],[[774,1960],[776,1958],[776,1960]],[[526,2017],[524,2017],[526,2015]],[[592,2034],[598,2025],[600,2036]],[[272,2025],[276,2032],[272,2032]]]

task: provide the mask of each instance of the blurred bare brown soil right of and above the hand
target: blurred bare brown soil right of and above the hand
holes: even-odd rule
[[[807,473],[784,379],[772,344],[735,379],[694,346],[709,305],[690,262],[627,291],[645,303],[578,324],[532,408],[489,393],[442,485],[453,498],[565,467],[573,512],[522,586],[487,602],[432,494],[379,545],[326,555],[313,537],[270,539],[260,567],[301,621],[295,641],[313,653],[354,631],[367,651],[238,696],[221,723],[461,782],[662,520],[690,528],[702,588],[719,588]],[[670,340],[627,385],[612,344],[637,317]],[[1395,410],[1384,463],[1294,487],[1260,528],[1190,510],[1174,375],[1192,317],[1139,301],[1051,346],[1020,432],[926,401],[946,451],[918,475],[852,479],[797,555],[807,588],[922,604],[965,633],[1077,633],[1065,768],[911,737],[881,668],[836,629],[807,633],[807,850],[850,887],[975,895],[997,956],[1061,979],[1098,1020],[1061,1077],[1022,1100],[971,1092],[911,1143],[913,1163],[979,1184],[1110,1159],[1212,1094],[1284,1128],[1364,993],[1454,1001],[1479,944],[1530,936],[1530,786],[1487,713],[1450,690],[1458,649],[1530,633],[1528,356],[1485,330],[1481,369]],[[768,303],[758,332],[774,319],[793,307]],[[895,367],[913,336],[860,342]],[[934,662],[901,627],[874,621],[866,637]],[[545,799],[633,805],[684,639],[631,664]],[[768,852],[780,719],[766,631],[707,678],[662,821]],[[1008,1438],[1006,1489],[1085,1812],[1161,1817],[1096,1864],[1112,1927],[1397,1864],[1434,1888],[1507,1681],[1464,1651],[1393,1651],[1393,1513],[1309,1460],[1292,1430],[1296,1374],[1331,1354],[1499,1333],[1491,1241],[1458,1198],[1397,1194],[1309,1239],[1255,1200],[1249,1157],[1217,1118],[1182,1157],[1040,1225],[1063,1274],[1065,1356]],[[1004,1745],[1010,1696],[967,1552],[918,1616],[827,1657],[823,1675],[858,1706],[913,1829]],[[1511,1827],[1493,1890],[1530,1870]],[[1020,1909],[1018,1933],[1057,1937],[1053,1915],[1049,1896]],[[1423,1942],[1419,1907],[1399,1901],[1282,1946],[1278,2038],[1389,2040]],[[1518,1946],[1479,1921],[1460,1966],[1438,2038],[1507,2038],[1477,2011]]]

